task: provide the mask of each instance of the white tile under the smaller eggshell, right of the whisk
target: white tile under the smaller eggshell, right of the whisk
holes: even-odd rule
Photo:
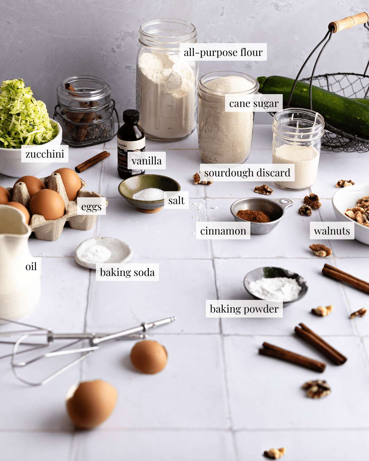
[[[83,366],[83,379],[113,384],[119,399],[103,427],[226,429],[229,426],[220,338],[216,335],[164,335],[167,366],[155,375],[132,366],[130,341],[101,346]]]

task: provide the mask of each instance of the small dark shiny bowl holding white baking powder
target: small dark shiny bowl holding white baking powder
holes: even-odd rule
[[[281,267],[258,267],[244,278],[244,287],[254,299],[283,301],[283,307],[306,295],[308,285],[298,273]]]

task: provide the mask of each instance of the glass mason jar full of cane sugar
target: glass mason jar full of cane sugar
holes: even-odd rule
[[[226,112],[225,95],[257,93],[256,78],[242,72],[218,71],[200,78],[198,141],[206,163],[244,163],[251,152],[255,112]]]

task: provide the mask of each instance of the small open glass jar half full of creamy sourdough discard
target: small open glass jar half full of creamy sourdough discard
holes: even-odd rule
[[[280,189],[304,190],[318,172],[324,118],[309,109],[283,109],[273,119],[272,163],[293,163],[294,181],[275,181]]]

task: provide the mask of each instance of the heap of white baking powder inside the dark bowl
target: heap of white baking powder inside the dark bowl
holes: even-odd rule
[[[250,282],[249,291],[261,299],[273,301],[293,301],[298,297],[301,287],[294,278],[259,278]]]

